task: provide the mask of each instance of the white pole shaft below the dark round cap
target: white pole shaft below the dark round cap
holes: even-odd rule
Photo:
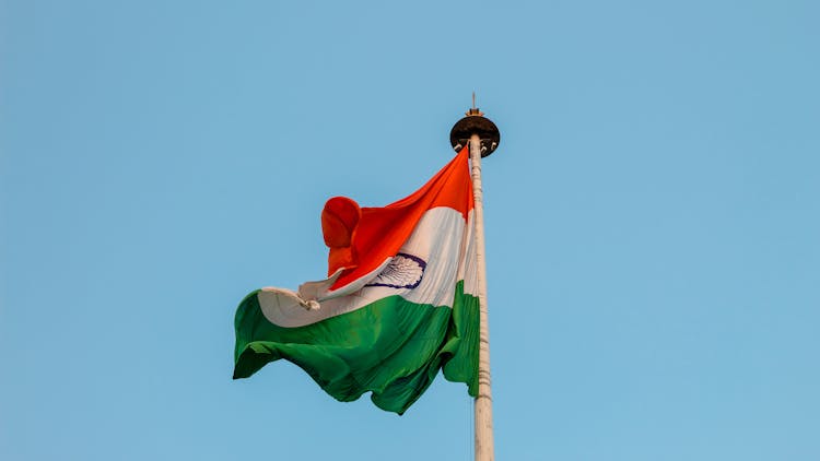
[[[476,257],[478,263],[479,391],[476,398],[476,461],[493,461],[493,399],[490,390],[490,328],[487,310],[487,262],[484,260],[484,206],[481,203],[481,139],[470,137],[470,165],[476,213]]]

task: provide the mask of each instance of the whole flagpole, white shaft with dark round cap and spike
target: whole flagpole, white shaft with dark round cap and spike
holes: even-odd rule
[[[470,170],[472,174],[473,213],[476,230],[476,259],[478,264],[479,298],[479,389],[475,402],[476,424],[476,461],[493,461],[493,407],[490,379],[490,328],[487,308],[487,261],[484,259],[484,206],[481,189],[481,157],[495,151],[501,141],[501,133],[495,123],[482,117],[476,107],[476,94],[472,95],[472,108],[467,117],[459,120],[450,131],[450,143],[456,150],[465,143],[470,146]]]

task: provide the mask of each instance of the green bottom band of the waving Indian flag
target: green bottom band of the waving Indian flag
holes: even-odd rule
[[[390,296],[320,322],[282,328],[269,322],[249,294],[236,311],[234,379],[284,358],[339,401],[372,391],[376,406],[405,413],[443,368],[478,394],[479,302],[456,286],[453,308]]]

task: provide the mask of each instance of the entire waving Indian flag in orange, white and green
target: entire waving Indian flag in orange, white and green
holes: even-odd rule
[[[384,208],[336,197],[328,279],[266,287],[236,311],[234,379],[283,358],[330,395],[402,414],[438,370],[478,393],[479,300],[468,150]]]

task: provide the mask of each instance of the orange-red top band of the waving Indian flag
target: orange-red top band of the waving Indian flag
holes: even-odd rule
[[[328,275],[344,269],[330,289],[338,289],[396,256],[430,209],[448,206],[467,218],[472,210],[472,180],[465,146],[421,189],[384,208],[362,208],[344,197],[325,204],[321,230],[330,248]]]

